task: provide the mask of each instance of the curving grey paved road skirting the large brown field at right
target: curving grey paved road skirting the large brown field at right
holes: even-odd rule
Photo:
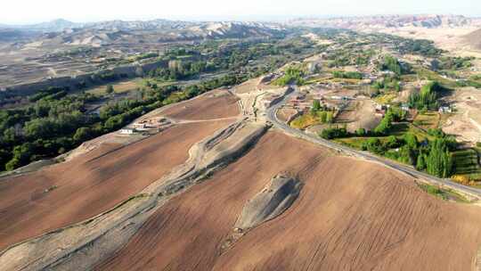
[[[425,179],[425,180],[427,180],[431,183],[435,183],[437,185],[441,185],[441,186],[444,186],[444,187],[447,187],[447,188],[451,188],[451,189],[459,191],[461,193],[468,193],[468,194],[471,194],[473,196],[477,196],[477,197],[481,198],[481,189],[477,189],[477,188],[474,188],[474,187],[469,187],[469,186],[453,183],[449,179],[433,177],[433,176],[428,175],[427,173],[420,172],[420,171],[418,171],[418,170],[416,170],[412,167],[406,166],[404,164],[397,163],[393,160],[387,160],[385,158],[373,155],[369,152],[359,152],[359,151],[356,151],[354,149],[348,148],[344,145],[337,144],[337,143],[331,142],[329,140],[325,140],[322,137],[308,135],[308,134],[306,134],[306,133],[304,133],[304,132],[302,132],[298,129],[289,127],[287,124],[285,124],[281,120],[277,119],[276,112],[284,103],[286,103],[286,101],[289,99],[289,97],[291,95],[297,93],[297,87],[294,86],[293,88],[294,88],[293,89],[294,91],[285,95],[284,98],[281,101],[279,101],[278,103],[275,103],[272,107],[270,107],[266,111],[266,118],[273,123],[274,127],[280,128],[281,130],[283,130],[284,132],[286,132],[287,134],[289,134],[291,136],[297,136],[299,138],[303,138],[303,139],[305,139],[307,141],[310,141],[314,144],[321,144],[322,146],[328,147],[330,149],[334,149],[338,152],[345,152],[346,154],[357,156],[357,157],[363,158],[365,160],[371,160],[371,161],[374,161],[374,162],[378,162],[380,164],[383,164],[383,165],[387,166],[388,168],[393,168],[393,169],[402,171],[402,172],[404,172],[404,173],[406,173],[406,174],[408,174],[412,177],[422,178],[422,179]]]

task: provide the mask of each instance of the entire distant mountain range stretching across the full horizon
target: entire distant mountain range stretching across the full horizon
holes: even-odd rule
[[[41,41],[52,45],[158,43],[225,37],[278,37],[291,27],[385,31],[387,29],[481,28],[481,20],[461,15],[379,15],[301,18],[284,23],[246,21],[100,21],[58,19],[32,25],[0,25],[0,42]]]

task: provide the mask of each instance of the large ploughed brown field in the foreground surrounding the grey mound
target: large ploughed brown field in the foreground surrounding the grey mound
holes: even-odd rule
[[[305,186],[221,254],[246,201],[286,171]],[[470,270],[480,211],[438,200],[372,163],[268,133],[159,209],[99,270]]]

